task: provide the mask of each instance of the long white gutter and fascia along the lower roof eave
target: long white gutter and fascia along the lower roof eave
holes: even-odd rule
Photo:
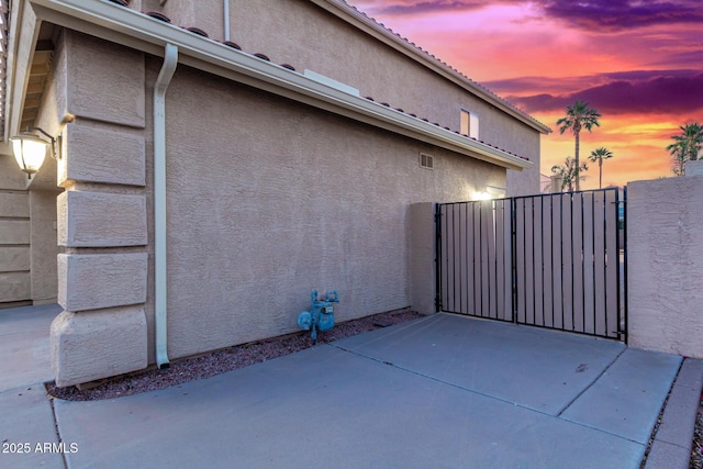
[[[532,163],[107,0],[27,0],[38,18],[509,169]]]

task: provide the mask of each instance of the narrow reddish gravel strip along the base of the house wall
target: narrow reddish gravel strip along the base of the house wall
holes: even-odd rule
[[[410,309],[403,309],[348,321],[336,324],[331,331],[317,333],[317,344],[326,344],[419,317],[423,317],[422,314]],[[81,389],[75,386],[57,388],[54,383],[47,383],[46,390],[49,395],[68,401],[112,399],[209,378],[312,346],[310,332],[301,331],[281,337],[237,345],[210,354],[172,361],[166,369],[159,370],[152,367],[143,371],[88,383],[80,387]]]

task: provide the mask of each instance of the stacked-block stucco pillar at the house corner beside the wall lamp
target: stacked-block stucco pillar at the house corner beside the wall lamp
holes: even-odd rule
[[[58,386],[147,366],[144,54],[65,31],[55,57],[64,131],[57,199]]]

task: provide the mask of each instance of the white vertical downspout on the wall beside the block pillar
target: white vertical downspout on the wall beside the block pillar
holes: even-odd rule
[[[178,65],[178,47],[166,44],[164,65],[154,83],[154,259],[156,365],[168,367],[166,336],[166,89]]]

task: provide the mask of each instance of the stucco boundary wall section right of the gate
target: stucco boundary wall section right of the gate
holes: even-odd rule
[[[629,344],[703,358],[703,176],[627,185]]]

